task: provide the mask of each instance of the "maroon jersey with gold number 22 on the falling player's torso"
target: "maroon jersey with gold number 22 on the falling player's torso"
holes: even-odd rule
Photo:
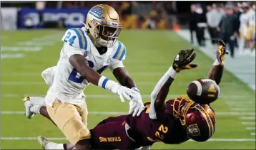
[[[186,129],[179,119],[174,117],[174,100],[166,102],[166,112],[161,118],[151,119],[149,117],[150,103],[145,103],[145,109],[139,117],[128,115],[126,122],[130,129],[129,136],[141,146],[152,145],[154,142],[164,142],[165,144],[180,144],[189,138]],[[179,105],[178,107],[182,107]]]

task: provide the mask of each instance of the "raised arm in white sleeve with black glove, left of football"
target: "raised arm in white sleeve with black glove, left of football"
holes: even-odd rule
[[[165,112],[165,100],[169,93],[169,87],[172,85],[177,73],[181,70],[196,68],[197,65],[189,64],[195,59],[196,54],[192,50],[181,50],[174,58],[172,67],[167,70],[167,73],[157,82],[150,97],[151,105],[149,107],[149,117],[157,119]]]

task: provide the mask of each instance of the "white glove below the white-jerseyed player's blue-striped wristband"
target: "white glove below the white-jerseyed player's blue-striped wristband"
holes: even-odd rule
[[[127,98],[127,100],[132,100],[132,97],[136,97],[136,91],[129,89],[127,87],[124,87],[119,84],[115,84],[111,90],[115,94],[119,95],[122,102],[124,102],[124,97]]]

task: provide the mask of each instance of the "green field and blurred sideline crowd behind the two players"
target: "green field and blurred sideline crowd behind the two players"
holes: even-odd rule
[[[255,149],[253,1],[1,1],[1,149],[40,149],[39,135],[65,141],[47,119],[26,119],[21,98],[44,97],[49,87],[41,72],[56,65],[67,28],[82,27],[96,4],[109,4],[119,13],[119,40],[127,47],[124,65],[144,102],[149,102],[154,85],[179,50],[195,48],[200,68],[180,73],[168,98],[184,95],[189,82],[207,76],[216,58],[217,43],[212,38],[222,38],[230,52],[220,100],[212,104],[217,112],[212,139],[157,143],[152,149]],[[115,80],[109,70],[103,74]],[[94,85],[85,94],[89,128],[106,117],[127,114],[128,104],[116,95]]]

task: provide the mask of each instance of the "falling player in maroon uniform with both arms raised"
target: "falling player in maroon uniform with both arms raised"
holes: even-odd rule
[[[224,69],[225,43],[219,42],[217,58],[208,79],[220,84]],[[151,102],[139,117],[122,115],[109,117],[91,129],[88,149],[150,149],[154,142],[181,144],[189,139],[207,141],[215,132],[215,112],[207,104],[198,104],[187,95],[166,100],[169,87],[181,70],[196,68],[190,64],[195,59],[193,50],[181,50],[172,67],[157,82],[151,94]],[[47,117],[44,107],[41,114]],[[143,124],[143,125],[142,125]],[[72,144],[56,144],[39,136],[44,149],[73,149]]]

